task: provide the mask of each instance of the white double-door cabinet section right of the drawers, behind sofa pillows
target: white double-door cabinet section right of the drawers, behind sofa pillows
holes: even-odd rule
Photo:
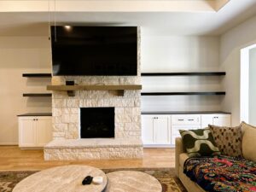
[[[218,125],[218,126],[230,126],[231,115],[230,114],[202,114],[201,128],[205,128],[209,124]]]

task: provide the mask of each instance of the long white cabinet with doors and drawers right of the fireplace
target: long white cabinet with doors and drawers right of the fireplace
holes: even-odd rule
[[[201,129],[211,125],[230,126],[231,115],[213,114],[143,114],[142,137],[144,146],[174,146],[179,130]]]

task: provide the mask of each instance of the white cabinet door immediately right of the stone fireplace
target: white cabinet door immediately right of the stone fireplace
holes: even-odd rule
[[[154,116],[142,115],[143,144],[154,144]]]

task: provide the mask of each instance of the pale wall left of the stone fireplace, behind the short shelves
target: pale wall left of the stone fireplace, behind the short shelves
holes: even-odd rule
[[[50,79],[26,79],[22,73],[50,73],[48,37],[0,37],[0,144],[18,142],[17,115],[51,112],[51,98],[23,97],[46,92]]]

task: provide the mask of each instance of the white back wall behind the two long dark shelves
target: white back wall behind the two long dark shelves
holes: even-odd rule
[[[219,38],[149,36],[142,28],[142,72],[219,71]],[[143,77],[143,91],[223,90],[219,77]],[[143,111],[220,110],[224,96],[143,96]]]

